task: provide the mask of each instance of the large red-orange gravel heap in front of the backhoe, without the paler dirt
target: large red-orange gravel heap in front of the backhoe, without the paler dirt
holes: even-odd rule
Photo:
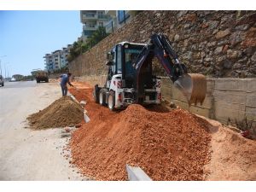
[[[127,180],[129,164],[140,166],[153,180],[203,179],[211,137],[195,115],[182,109],[157,108],[158,113],[140,105],[113,113],[92,102],[91,89],[70,91],[87,102],[90,117],[70,143],[72,162],[84,175]]]

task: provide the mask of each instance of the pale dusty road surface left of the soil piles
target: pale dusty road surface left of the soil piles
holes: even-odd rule
[[[61,97],[57,83],[0,87],[0,180],[84,180],[61,154],[61,129],[32,131],[26,117]]]

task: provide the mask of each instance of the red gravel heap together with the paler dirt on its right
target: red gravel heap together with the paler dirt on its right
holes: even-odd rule
[[[255,180],[256,143],[182,109],[131,105],[110,112],[92,99],[89,84],[69,91],[85,108],[70,142],[72,163],[96,180],[126,180],[125,164],[153,180]]]

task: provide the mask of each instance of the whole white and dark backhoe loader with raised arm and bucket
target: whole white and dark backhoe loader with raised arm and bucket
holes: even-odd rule
[[[95,85],[93,96],[110,110],[129,104],[160,104],[161,82],[153,74],[152,61],[156,57],[173,84],[186,96],[189,105],[205,99],[207,79],[198,73],[188,73],[178,61],[171,42],[162,33],[155,33],[147,44],[122,42],[107,53],[108,78],[103,87]]]

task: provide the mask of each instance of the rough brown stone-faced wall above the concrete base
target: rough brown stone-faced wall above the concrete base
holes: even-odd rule
[[[75,76],[107,73],[109,49],[121,41],[145,43],[164,32],[190,73],[256,77],[256,11],[143,11],[70,64]],[[165,76],[154,60],[154,72]]]

